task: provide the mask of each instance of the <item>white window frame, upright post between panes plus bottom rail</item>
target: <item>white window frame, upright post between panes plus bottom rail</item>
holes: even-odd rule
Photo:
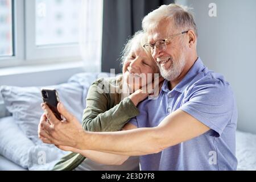
[[[35,0],[11,0],[11,3],[13,56],[1,56],[0,69],[82,61],[80,43],[36,47]]]

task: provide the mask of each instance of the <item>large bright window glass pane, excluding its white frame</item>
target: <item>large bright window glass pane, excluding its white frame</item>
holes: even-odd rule
[[[79,43],[81,0],[36,0],[36,46]]]

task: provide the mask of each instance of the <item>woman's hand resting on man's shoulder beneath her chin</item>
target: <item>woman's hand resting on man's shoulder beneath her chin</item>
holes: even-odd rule
[[[160,89],[163,86],[164,78],[159,77],[158,79],[154,80],[150,84],[147,84],[141,89],[136,90],[132,93],[129,98],[133,102],[135,106],[139,104],[139,102],[146,99],[148,96],[158,96]]]

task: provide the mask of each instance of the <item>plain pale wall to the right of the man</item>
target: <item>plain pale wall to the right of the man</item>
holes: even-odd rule
[[[193,7],[199,30],[199,56],[228,80],[238,105],[238,130],[256,133],[256,1],[183,0]],[[210,3],[217,17],[210,17]]]

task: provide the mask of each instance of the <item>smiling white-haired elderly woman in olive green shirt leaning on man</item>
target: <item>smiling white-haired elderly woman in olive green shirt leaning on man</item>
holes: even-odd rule
[[[154,75],[159,75],[155,61],[142,46],[145,40],[144,33],[139,31],[126,43],[122,53],[123,75],[115,78],[100,78],[90,86],[86,98],[87,106],[82,118],[84,130],[119,131],[129,119],[139,115],[137,105],[148,97],[148,92],[143,92],[142,88],[154,81]],[[160,78],[160,81],[163,81],[163,78]],[[46,123],[46,116],[43,115],[42,118],[39,137],[44,143],[51,143],[47,138],[40,136],[40,133],[44,132],[42,125]],[[59,148],[73,152],[64,156],[53,170],[139,169],[138,157],[131,157],[121,166],[112,166],[111,158],[114,157],[112,154],[96,151],[80,152],[75,148],[63,146]]]

